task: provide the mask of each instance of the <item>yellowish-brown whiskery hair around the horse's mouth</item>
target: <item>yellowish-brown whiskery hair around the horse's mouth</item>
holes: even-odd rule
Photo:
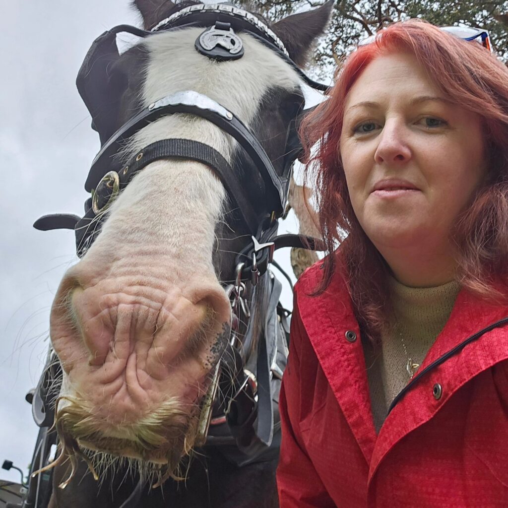
[[[61,401],[67,405],[58,410]],[[61,488],[74,477],[78,459],[86,462],[96,480],[102,480],[110,469],[114,472],[125,466],[154,488],[169,478],[183,480],[182,458],[193,450],[198,417],[199,406],[189,415],[176,399],[169,399],[135,424],[118,426],[117,434],[122,437],[106,436],[98,430],[104,423],[93,416],[88,404],[76,398],[60,397],[55,419],[60,454],[44,469],[70,461],[71,472],[60,484]]]

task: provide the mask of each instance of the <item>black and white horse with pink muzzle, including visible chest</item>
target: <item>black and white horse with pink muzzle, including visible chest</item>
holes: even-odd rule
[[[134,4],[144,30],[198,5]],[[163,26],[121,55],[113,51],[114,58],[106,48],[95,60],[85,60],[78,86],[101,143],[107,145],[161,98],[193,90],[243,123],[268,155],[275,179],[283,177],[291,126],[304,105],[302,75],[291,60],[305,64],[332,4],[273,24],[278,51],[255,30],[233,30],[236,39],[226,37],[223,46],[231,40],[238,44],[239,38],[243,56],[210,56],[197,50],[204,26],[193,21]],[[228,35],[227,25],[215,28]],[[277,214],[266,175],[242,142],[210,118],[180,112],[147,121],[122,138],[111,161],[121,161],[118,173],[126,175],[126,161],[137,164],[147,146],[166,139],[211,147],[241,182],[250,215],[260,224],[270,216],[268,223],[273,221]],[[161,486],[139,484],[133,506],[276,506],[276,438],[271,453],[259,460],[232,460],[236,449],[228,447],[196,449],[203,398],[230,351],[232,320],[246,321],[248,315],[244,310],[232,316],[231,294],[225,291],[228,282],[238,291],[238,252],[256,234],[239,210],[247,203],[232,199],[224,175],[196,159],[158,158],[128,183],[118,195],[115,189],[106,212],[96,210],[91,224],[96,228],[100,219],[100,230],[81,238],[88,242],[86,248],[78,245],[82,259],[61,281],[51,312],[51,341],[62,380],[56,414],[61,456],[54,466],[50,506],[127,506],[122,503],[129,502],[139,475]],[[115,182],[106,186],[113,189]],[[254,296],[251,306],[263,305],[268,284],[262,277],[261,296]],[[252,295],[246,285],[245,293]],[[244,304],[242,298],[238,302]],[[245,324],[233,326],[241,337]],[[98,469],[99,482],[88,468]],[[186,481],[175,481],[178,476]],[[169,477],[174,480],[164,482]],[[58,488],[62,484],[66,488]]]

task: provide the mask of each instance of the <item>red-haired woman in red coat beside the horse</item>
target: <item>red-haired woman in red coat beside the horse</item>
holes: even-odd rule
[[[295,288],[282,508],[508,506],[508,70],[396,23],[304,135],[331,253]]]

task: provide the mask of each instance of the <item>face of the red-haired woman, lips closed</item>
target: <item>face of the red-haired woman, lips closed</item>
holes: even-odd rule
[[[406,53],[377,57],[350,90],[340,154],[355,214],[382,253],[448,248],[486,173],[480,117],[444,100]]]

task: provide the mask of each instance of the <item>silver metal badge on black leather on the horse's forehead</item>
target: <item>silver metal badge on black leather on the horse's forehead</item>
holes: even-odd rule
[[[195,47],[199,53],[217,61],[238,60],[244,55],[243,42],[235,34],[231,23],[216,21],[197,39]]]

